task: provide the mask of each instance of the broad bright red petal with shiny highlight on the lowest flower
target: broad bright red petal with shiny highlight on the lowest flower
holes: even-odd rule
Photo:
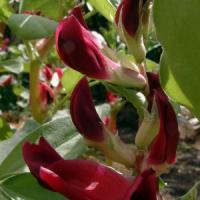
[[[117,172],[86,160],[63,160],[41,168],[41,179],[48,186],[73,200],[129,200],[125,195],[130,181]]]

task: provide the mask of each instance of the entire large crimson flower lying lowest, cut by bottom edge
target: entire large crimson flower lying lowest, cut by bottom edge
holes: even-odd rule
[[[135,179],[89,160],[64,160],[42,137],[39,144],[25,142],[23,157],[42,185],[73,200],[156,200],[155,172]]]

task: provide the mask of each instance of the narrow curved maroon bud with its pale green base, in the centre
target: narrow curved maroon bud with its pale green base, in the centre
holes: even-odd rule
[[[117,134],[113,134],[104,126],[95,110],[85,77],[79,81],[72,92],[70,113],[74,125],[89,145],[103,151],[111,160],[133,166],[136,148],[124,144]]]

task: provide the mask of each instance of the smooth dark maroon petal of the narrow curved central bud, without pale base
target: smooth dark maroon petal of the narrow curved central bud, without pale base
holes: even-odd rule
[[[87,79],[82,78],[75,87],[70,103],[72,121],[80,133],[89,140],[104,140],[103,122],[99,118]]]

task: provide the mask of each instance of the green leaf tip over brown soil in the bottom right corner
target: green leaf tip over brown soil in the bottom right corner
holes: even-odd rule
[[[185,195],[176,200],[198,200],[198,191],[200,191],[200,182],[196,183]]]

